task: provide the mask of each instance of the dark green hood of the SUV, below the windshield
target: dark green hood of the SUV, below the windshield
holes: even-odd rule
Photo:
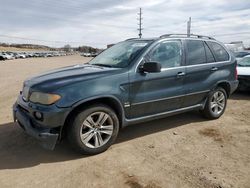
[[[37,75],[26,80],[24,86],[32,90],[51,92],[72,83],[110,75],[117,70],[118,68],[79,64]]]

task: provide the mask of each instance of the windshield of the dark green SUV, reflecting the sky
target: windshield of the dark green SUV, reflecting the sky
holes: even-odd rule
[[[135,58],[149,41],[124,41],[105,50],[100,55],[92,59],[89,64],[124,68]]]

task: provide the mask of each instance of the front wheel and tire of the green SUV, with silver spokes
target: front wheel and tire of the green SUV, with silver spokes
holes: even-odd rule
[[[95,155],[107,150],[116,140],[119,120],[106,105],[93,105],[79,112],[68,127],[68,141],[82,154]]]

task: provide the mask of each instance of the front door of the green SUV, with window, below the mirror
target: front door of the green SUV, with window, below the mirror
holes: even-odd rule
[[[161,72],[130,72],[130,118],[182,107],[185,77],[182,54],[180,40],[160,42],[144,57],[144,61],[160,63]]]

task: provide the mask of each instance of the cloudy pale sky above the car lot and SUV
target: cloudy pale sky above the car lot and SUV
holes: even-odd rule
[[[0,42],[104,48],[142,36],[209,35],[250,46],[250,0],[0,0]]]

